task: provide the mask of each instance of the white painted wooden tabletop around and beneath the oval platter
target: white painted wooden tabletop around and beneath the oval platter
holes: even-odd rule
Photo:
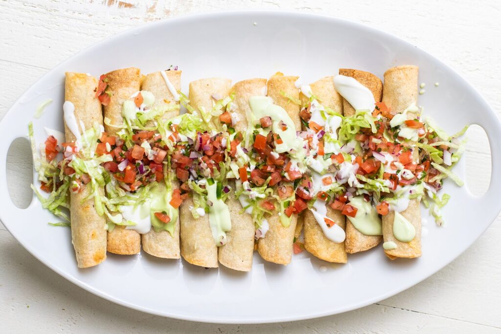
[[[386,0],[78,0],[60,4],[1,0],[0,117],[49,69],[99,40],[150,21],[249,8],[321,13],[395,34],[459,71],[500,113],[501,5],[481,0],[399,3]],[[467,182],[472,192],[481,193],[489,182],[489,149],[481,130],[472,129],[468,136],[467,170],[470,175],[472,171],[480,171],[475,173],[480,176],[469,177]],[[22,185],[30,176],[30,164],[20,153],[22,150],[12,151],[8,174],[12,175],[9,181],[12,196],[17,203],[26,203],[31,193]],[[0,224],[0,332],[365,333],[420,329],[423,332],[501,332],[499,240],[501,218],[498,216],[491,227],[446,268],[394,297],[359,310],[280,324],[217,325],[149,315],[97,297],[40,263]]]

